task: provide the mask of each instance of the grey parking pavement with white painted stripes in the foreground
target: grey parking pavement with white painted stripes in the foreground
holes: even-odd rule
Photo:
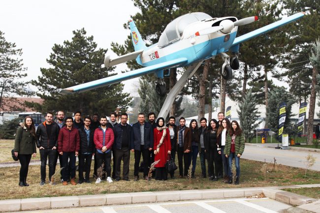
[[[269,199],[196,200],[87,208],[25,211],[19,213],[303,213],[301,209]],[[305,213],[305,212],[304,212]]]

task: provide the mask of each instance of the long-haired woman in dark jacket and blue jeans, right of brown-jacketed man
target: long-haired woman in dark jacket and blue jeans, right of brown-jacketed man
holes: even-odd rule
[[[198,123],[196,122],[195,119],[192,119],[189,125],[191,129],[191,157],[190,157],[190,163],[192,160],[192,174],[191,178],[195,178],[194,176],[194,171],[195,171],[195,166],[196,166],[196,158],[198,156],[199,152],[199,133],[198,133]]]

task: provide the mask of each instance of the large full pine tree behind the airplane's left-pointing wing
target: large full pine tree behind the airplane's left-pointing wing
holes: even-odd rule
[[[84,29],[73,31],[71,41],[63,45],[55,44],[47,62],[51,68],[41,68],[42,75],[32,84],[39,88],[37,93],[44,102],[42,105],[29,103],[40,112],[65,110],[82,111],[84,115],[106,115],[117,107],[126,111],[131,98],[123,93],[123,84],[113,84],[83,93],[61,95],[64,88],[111,76],[113,68],[101,67],[107,50],[97,49],[93,36],[86,36]]]

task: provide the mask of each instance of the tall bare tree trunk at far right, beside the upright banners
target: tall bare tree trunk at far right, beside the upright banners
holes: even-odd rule
[[[315,116],[315,106],[316,106],[316,84],[317,84],[317,69],[314,67],[312,70],[312,81],[311,81],[311,95],[309,103],[309,116],[308,116],[308,141],[307,145],[312,145],[313,141],[313,120]]]

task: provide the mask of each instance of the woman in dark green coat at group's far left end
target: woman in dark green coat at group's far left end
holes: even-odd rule
[[[27,183],[27,175],[31,155],[35,157],[35,127],[33,120],[30,116],[25,118],[24,126],[17,129],[16,138],[14,141],[14,155],[18,156],[21,168],[19,185],[29,186]]]

